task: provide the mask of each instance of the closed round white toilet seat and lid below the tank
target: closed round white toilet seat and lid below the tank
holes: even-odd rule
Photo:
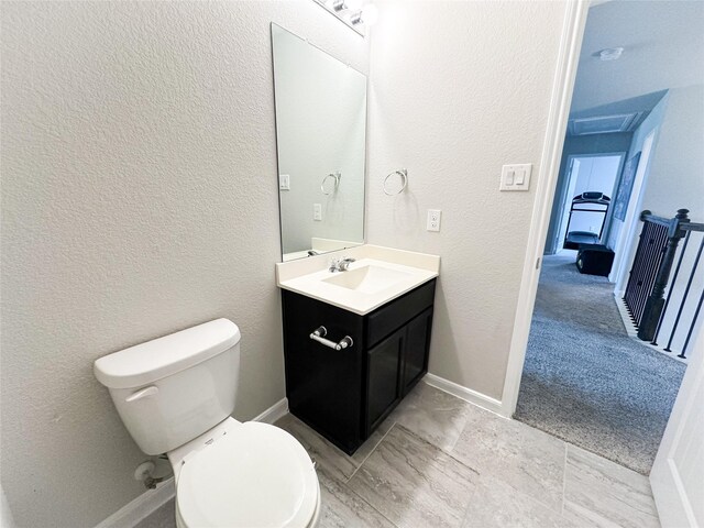
[[[288,432],[245,422],[187,457],[178,475],[178,524],[188,528],[310,526],[319,507],[316,470]]]

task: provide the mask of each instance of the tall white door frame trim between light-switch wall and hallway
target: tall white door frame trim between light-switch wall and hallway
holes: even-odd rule
[[[586,25],[590,0],[566,2],[558,64],[552,81],[552,96],[548,113],[548,125],[540,156],[540,170],[534,194],[534,207],[530,219],[530,231],[526,245],[518,302],[514,318],[514,332],[510,340],[506,377],[502,394],[501,415],[510,418],[516,410],[520,378],[526,360],[528,333],[538,292],[540,264],[550,226],[550,215],[554,200],[564,133],[570,117],[572,92],[582,50],[582,38]]]

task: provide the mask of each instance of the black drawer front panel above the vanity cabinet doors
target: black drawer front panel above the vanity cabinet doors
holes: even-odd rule
[[[366,345],[373,346],[422,310],[432,306],[436,295],[436,280],[433,278],[371,312],[367,316]]]

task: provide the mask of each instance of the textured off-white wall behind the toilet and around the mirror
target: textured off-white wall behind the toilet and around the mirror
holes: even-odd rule
[[[367,72],[312,1],[2,2],[2,488],[88,527],[144,490],[97,358],[217,317],[235,416],[284,396],[270,22]]]

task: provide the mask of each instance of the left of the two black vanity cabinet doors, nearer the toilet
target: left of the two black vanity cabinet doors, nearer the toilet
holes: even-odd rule
[[[400,399],[400,361],[405,340],[404,327],[366,352],[365,436]]]

